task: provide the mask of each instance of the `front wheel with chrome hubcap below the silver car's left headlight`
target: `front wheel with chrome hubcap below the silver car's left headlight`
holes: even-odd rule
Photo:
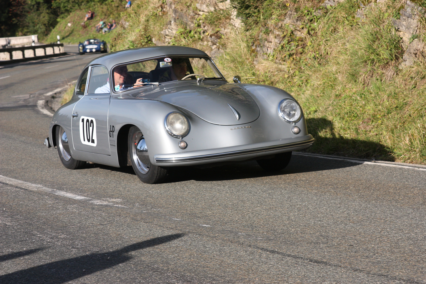
[[[144,135],[136,126],[129,129],[128,136],[130,161],[138,178],[145,184],[158,184],[167,176],[167,169],[151,164]]]

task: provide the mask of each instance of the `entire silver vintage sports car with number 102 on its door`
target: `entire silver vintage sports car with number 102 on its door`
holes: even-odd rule
[[[153,46],[92,60],[52,118],[46,146],[68,169],[132,166],[144,183],[173,166],[256,160],[285,168],[314,143],[299,104],[265,85],[229,83],[199,49]]]

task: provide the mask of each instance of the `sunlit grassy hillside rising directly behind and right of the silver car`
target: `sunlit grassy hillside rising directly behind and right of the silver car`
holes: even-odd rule
[[[163,42],[219,51],[215,62],[228,80],[240,75],[294,95],[317,139],[308,152],[426,164],[424,48],[402,68],[405,47],[392,25],[406,1],[374,1],[363,20],[355,17],[360,3],[373,1],[322,2],[234,0],[244,23],[236,28],[232,8],[200,12],[192,0],[138,0],[121,13],[127,28],[108,35],[110,48]],[[173,25],[170,39],[164,29]],[[425,40],[424,18],[414,38]]]

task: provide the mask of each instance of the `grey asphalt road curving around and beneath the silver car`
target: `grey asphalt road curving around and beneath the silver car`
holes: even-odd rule
[[[426,283],[425,169],[293,155],[149,185],[63,167],[36,103],[97,56],[0,68],[1,284]]]

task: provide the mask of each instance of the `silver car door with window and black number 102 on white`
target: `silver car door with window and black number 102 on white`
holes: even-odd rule
[[[90,66],[83,98],[72,113],[72,144],[79,151],[110,155],[108,109],[110,87],[104,66]]]

